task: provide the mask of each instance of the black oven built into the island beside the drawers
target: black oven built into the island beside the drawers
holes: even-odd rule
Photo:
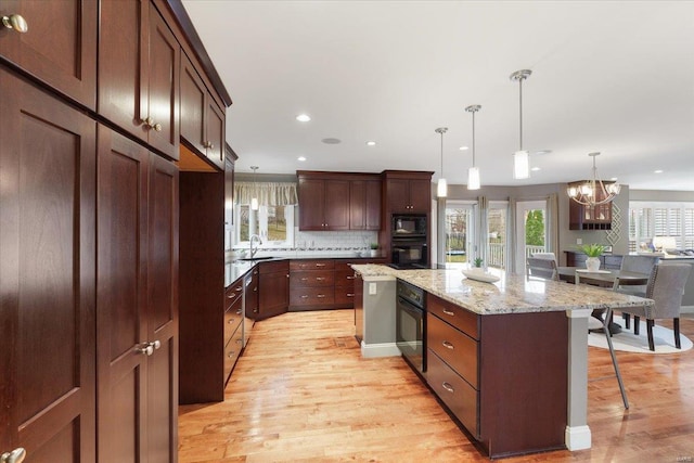
[[[396,293],[396,344],[410,366],[424,373],[426,371],[424,291],[398,280]]]

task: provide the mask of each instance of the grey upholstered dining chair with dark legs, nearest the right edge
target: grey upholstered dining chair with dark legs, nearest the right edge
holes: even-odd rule
[[[672,319],[674,331],[674,347],[681,349],[680,344],[680,307],[684,285],[692,266],[689,263],[658,263],[653,267],[646,284],[645,297],[653,299],[653,307],[629,307],[620,309],[621,313],[633,316],[633,333],[639,334],[639,320],[646,319],[648,349],[655,351],[653,326],[655,320]]]

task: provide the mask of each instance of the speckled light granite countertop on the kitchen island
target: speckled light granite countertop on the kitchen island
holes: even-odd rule
[[[606,309],[653,305],[653,300],[614,293],[584,284],[506,275],[483,283],[465,278],[460,270],[396,270],[381,265],[355,265],[365,279],[393,276],[478,314]]]

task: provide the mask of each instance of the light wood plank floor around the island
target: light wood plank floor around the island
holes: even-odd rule
[[[488,461],[402,359],[360,357],[352,322],[333,310],[256,323],[226,400],[180,407],[180,463]],[[694,320],[681,330],[694,339]],[[618,352],[625,410],[608,351],[589,349],[592,449],[507,461],[694,461],[694,350]]]

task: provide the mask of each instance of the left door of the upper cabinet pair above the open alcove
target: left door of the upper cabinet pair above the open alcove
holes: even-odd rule
[[[184,54],[181,55],[181,138],[197,152],[205,153],[205,105],[207,88]]]

